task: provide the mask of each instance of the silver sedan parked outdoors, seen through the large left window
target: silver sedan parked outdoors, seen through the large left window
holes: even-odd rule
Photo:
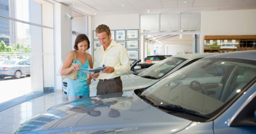
[[[23,75],[30,75],[29,60],[7,60],[0,65],[0,78],[7,76],[21,78]]]

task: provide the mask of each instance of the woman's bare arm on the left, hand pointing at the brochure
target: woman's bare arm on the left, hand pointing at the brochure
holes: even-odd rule
[[[81,68],[78,64],[70,67],[73,60],[75,60],[75,53],[70,51],[67,54],[67,56],[63,62],[63,66],[61,68],[60,75],[67,75],[67,74],[71,73],[71,71],[78,70]]]

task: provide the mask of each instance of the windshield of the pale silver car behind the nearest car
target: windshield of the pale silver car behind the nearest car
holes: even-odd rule
[[[170,57],[162,60],[159,63],[152,65],[147,68],[145,71],[142,71],[138,74],[140,77],[145,78],[155,78],[160,79],[169,71],[171,71],[174,67],[178,66],[180,63],[184,62],[186,59],[179,57]]]

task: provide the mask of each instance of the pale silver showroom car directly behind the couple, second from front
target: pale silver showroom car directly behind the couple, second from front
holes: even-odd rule
[[[138,75],[128,74],[121,75],[121,80],[123,83],[123,91],[134,90],[138,88],[146,88],[153,85],[160,79],[166,77],[167,75],[177,71],[178,69],[185,67],[186,65],[195,62],[205,56],[210,56],[216,53],[189,53],[180,54],[176,56],[170,56],[165,60],[160,61],[147,68],[146,70],[140,72]],[[64,81],[65,82],[65,81]],[[66,92],[67,82],[64,84],[63,90]],[[96,87],[99,81],[92,81],[90,85],[90,96],[96,95]]]

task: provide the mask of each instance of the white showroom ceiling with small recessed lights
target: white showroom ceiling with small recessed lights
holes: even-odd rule
[[[256,9],[256,0],[54,0],[89,15]],[[149,12],[148,12],[149,11]]]

